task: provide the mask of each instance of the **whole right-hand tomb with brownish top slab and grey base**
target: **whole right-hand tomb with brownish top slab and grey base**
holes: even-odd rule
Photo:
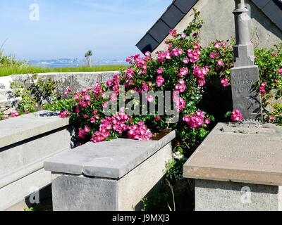
[[[282,210],[281,141],[274,124],[219,123],[183,168],[196,210]]]

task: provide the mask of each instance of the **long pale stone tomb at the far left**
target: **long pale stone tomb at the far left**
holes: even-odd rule
[[[68,119],[42,111],[0,121],[0,210],[51,184],[44,160],[71,147]]]

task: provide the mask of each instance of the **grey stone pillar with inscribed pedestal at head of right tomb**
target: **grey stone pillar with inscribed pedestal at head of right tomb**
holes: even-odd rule
[[[233,109],[240,110],[244,120],[262,120],[262,100],[255,84],[259,68],[255,65],[254,46],[250,41],[248,10],[245,0],[235,0],[234,68],[231,69]]]

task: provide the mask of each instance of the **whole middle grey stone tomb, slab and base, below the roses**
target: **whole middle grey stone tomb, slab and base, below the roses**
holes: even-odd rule
[[[47,162],[56,211],[135,210],[164,176],[171,132],[159,141],[87,143]]]

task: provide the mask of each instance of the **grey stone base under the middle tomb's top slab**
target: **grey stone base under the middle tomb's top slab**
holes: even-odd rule
[[[171,143],[121,179],[53,172],[54,211],[133,211],[164,176]]]

